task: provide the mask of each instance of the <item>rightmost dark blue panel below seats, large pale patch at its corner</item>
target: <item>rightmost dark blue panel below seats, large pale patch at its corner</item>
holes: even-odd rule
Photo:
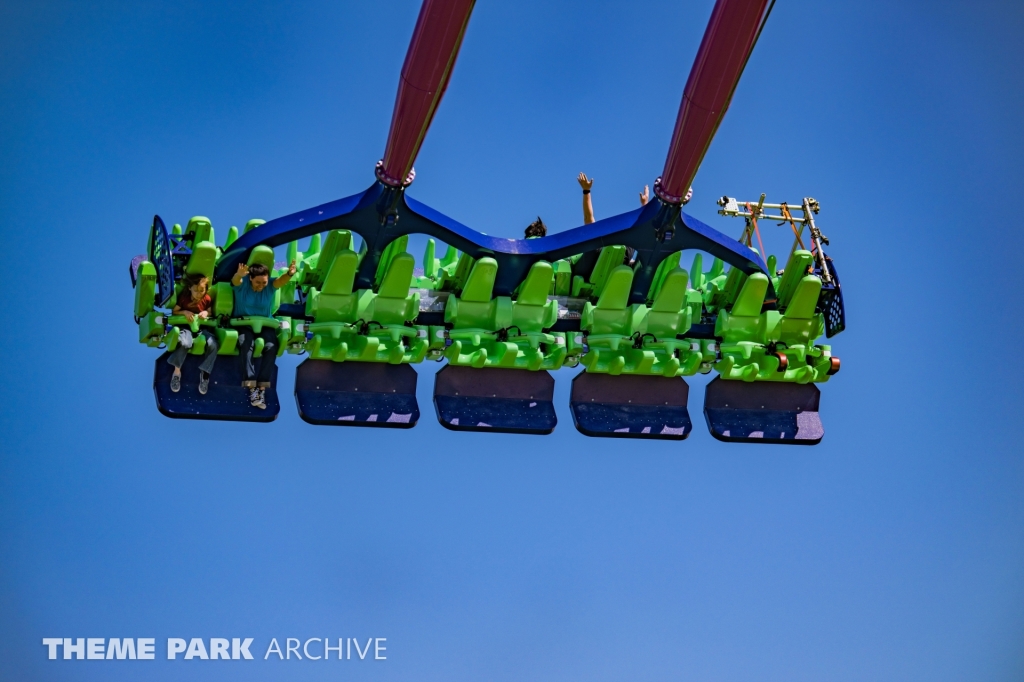
[[[814,384],[716,377],[705,391],[705,418],[719,440],[815,445],[824,435],[818,416],[820,395]]]

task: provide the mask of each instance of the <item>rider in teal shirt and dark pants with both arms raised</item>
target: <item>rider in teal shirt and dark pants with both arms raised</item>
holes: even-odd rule
[[[295,261],[288,266],[288,271],[270,283],[270,268],[262,263],[246,266],[239,263],[239,269],[231,278],[234,291],[234,317],[259,316],[269,317],[273,314],[273,290],[281,289],[295,274]],[[259,357],[259,367],[253,361],[253,350],[256,339],[263,339],[263,353]],[[242,327],[239,330],[239,359],[242,361],[242,372],[245,380],[242,385],[249,389],[249,402],[254,408],[266,410],[265,392],[270,386],[274,364],[278,361],[278,330],[276,327],[264,326],[259,333],[251,328]]]

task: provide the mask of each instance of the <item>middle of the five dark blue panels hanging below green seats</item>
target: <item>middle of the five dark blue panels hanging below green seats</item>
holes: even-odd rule
[[[545,434],[558,423],[554,390],[543,370],[445,365],[434,378],[434,408],[454,431]]]

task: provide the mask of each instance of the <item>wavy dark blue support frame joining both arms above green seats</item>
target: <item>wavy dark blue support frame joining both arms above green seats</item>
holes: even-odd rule
[[[332,229],[355,232],[367,244],[367,255],[355,279],[357,289],[373,287],[388,244],[403,235],[417,233],[433,237],[473,258],[489,256],[497,260],[496,296],[510,296],[539,260],[554,262],[612,245],[632,247],[642,264],[633,279],[631,303],[646,299],[658,264],[677,251],[695,249],[743,272],[767,273],[757,252],[656,198],[643,208],[564,232],[534,240],[507,240],[477,232],[406,196],[402,187],[375,182],[357,195],[275,218],[241,236],[217,261],[215,280],[230,280],[238,264],[248,262],[249,254],[258,245],[276,247]],[[774,291],[769,291],[767,300],[774,298]]]

